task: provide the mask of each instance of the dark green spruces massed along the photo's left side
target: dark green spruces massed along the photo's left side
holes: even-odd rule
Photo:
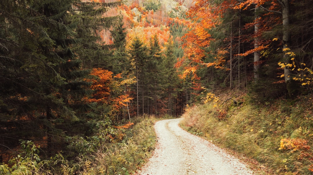
[[[82,63],[100,55],[97,32],[115,20],[102,14],[118,4],[0,2],[2,148],[33,138],[47,143],[49,156],[63,148],[65,135],[90,134],[84,124],[92,106],[83,101],[91,93],[90,71]]]

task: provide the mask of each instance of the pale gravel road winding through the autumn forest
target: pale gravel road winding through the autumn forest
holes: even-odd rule
[[[139,175],[252,175],[239,159],[178,126],[181,119],[156,122],[158,143]]]

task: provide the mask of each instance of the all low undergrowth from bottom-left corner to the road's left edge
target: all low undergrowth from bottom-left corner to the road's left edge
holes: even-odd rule
[[[71,142],[69,149],[78,153],[74,160],[67,159],[62,152],[49,160],[41,160],[38,145],[32,141],[21,141],[20,153],[8,163],[0,164],[0,175],[135,173],[155,148],[153,125],[156,120],[153,116],[143,116],[121,126],[109,127],[100,123],[95,136],[67,138]],[[105,127],[101,128],[101,125]]]

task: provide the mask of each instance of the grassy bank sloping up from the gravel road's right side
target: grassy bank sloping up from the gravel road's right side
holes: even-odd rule
[[[247,95],[212,96],[187,110],[182,126],[257,160],[273,174],[312,174],[312,103],[311,96],[262,103]]]

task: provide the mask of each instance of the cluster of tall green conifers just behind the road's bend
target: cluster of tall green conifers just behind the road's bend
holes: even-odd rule
[[[172,47],[168,46],[168,47]],[[168,48],[167,55],[163,56],[158,37],[150,38],[149,43],[144,43],[140,38],[135,37],[129,48],[129,56],[135,66],[136,75],[136,105],[137,115],[140,114],[164,114],[171,111],[173,114],[174,106],[168,104],[168,96],[164,95],[168,88],[173,89],[171,84],[173,79],[165,79],[174,71],[173,61],[176,59],[169,53],[172,48]],[[166,63],[171,64],[166,64]],[[173,74],[170,76],[174,76]],[[174,84],[172,85],[174,86]],[[172,93],[172,90],[171,90]],[[172,105],[168,109],[167,105]]]

